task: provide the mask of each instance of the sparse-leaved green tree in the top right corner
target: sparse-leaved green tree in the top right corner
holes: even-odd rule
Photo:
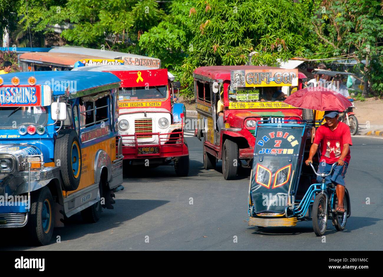
[[[316,47],[322,58],[354,58],[358,63],[355,70],[364,77],[363,96],[368,97],[369,91],[382,95],[383,2],[316,1],[315,10],[312,30],[318,36]]]

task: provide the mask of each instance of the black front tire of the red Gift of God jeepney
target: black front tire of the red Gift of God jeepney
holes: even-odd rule
[[[234,162],[237,162],[237,166]],[[239,166],[238,146],[234,141],[226,139],[222,149],[222,173],[225,180],[233,180],[237,176]]]

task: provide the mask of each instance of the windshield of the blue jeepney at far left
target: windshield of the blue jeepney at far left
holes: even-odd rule
[[[39,126],[47,122],[45,107],[0,107],[0,129],[17,129],[21,125]]]

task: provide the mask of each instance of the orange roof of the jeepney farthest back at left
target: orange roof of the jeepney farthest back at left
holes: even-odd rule
[[[95,57],[83,54],[74,53],[51,53],[51,52],[29,52],[20,55],[20,60],[25,62],[34,63],[48,63],[52,65],[61,65],[73,67],[75,62],[81,59],[103,59],[102,57]]]

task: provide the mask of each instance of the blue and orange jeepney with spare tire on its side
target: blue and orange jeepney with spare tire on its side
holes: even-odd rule
[[[0,228],[27,226],[46,245],[64,217],[97,222],[113,209],[123,189],[119,82],[105,72],[0,77]]]

